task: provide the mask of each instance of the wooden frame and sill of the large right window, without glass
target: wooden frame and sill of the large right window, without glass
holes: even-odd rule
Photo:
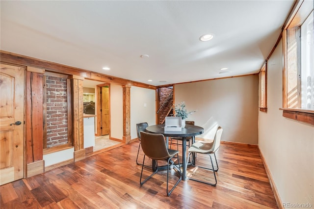
[[[306,18],[311,14],[313,11],[313,1],[306,1],[301,0],[298,1],[293,9],[291,10],[285,25],[283,26],[283,52],[284,52],[284,69],[283,69],[283,108],[279,108],[280,110],[283,110],[283,117],[287,117],[299,122],[308,123],[311,125],[314,125],[314,110],[312,109],[302,109],[300,108],[300,102],[298,101],[296,104],[296,107],[289,108],[288,106],[288,29],[291,28],[298,28],[300,27]],[[296,29],[297,30],[297,29]],[[297,32],[296,32],[297,36]],[[297,48],[300,43],[297,43]],[[299,49],[296,49],[297,51],[297,62],[296,65],[298,66],[297,73],[300,73],[301,69],[299,69],[299,64],[301,54],[298,52]],[[300,75],[300,74],[299,74]],[[301,100],[301,91],[300,91],[300,83],[301,78],[298,76],[297,78],[297,100]]]

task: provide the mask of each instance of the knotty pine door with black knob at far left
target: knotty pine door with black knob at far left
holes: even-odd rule
[[[4,64],[0,64],[0,68],[0,185],[2,185],[24,178],[25,70]]]

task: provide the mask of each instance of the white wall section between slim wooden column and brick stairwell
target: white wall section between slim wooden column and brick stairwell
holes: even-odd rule
[[[131,87],[131,139],[137,138],[136,124],[147,122],[156,124],[156,91],[152,89]]]

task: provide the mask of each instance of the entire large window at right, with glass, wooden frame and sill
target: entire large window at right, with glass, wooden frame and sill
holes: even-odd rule
[[[314,124],[313,1],[299,1],[294,11],[283,31],[283,115]]]

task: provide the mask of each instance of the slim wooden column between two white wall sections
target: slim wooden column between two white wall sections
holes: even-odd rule
[[[131,85],[123,85],[123,137],[122,142],[131,141]]]

